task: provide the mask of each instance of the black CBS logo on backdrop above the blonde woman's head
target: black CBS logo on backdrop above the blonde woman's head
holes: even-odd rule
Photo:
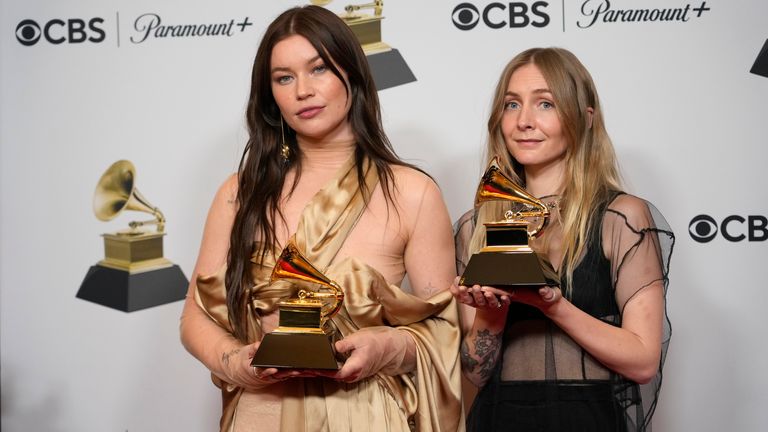
[[[453,8],[451,18],[459,30],[472,30],[480,21],[492,29],[522,28],[528,25],[545,27],[549,24],[549,14],[545,11],[547,6],[549,3],[545,1],[537,1],[530,6],[523,2],[493,2],[480,11],[472,3],[460,3]]]

